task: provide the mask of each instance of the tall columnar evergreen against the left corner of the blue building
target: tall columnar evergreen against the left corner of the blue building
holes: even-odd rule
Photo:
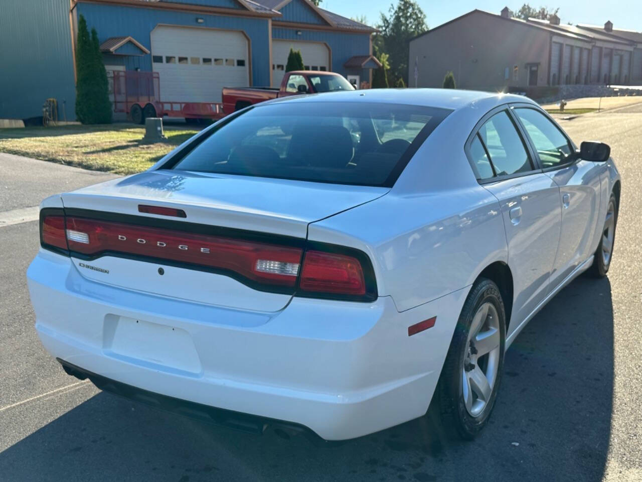
[[[107,72],[103,65],[98,33],[90,37],[83,15],[78,19],[76,42],[76,118],[83,124],[109,123],[112,106],[109,102]]]

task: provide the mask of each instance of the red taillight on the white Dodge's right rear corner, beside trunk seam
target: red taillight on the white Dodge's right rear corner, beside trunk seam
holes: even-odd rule
[[[357,258],[322,251],[306,251],[299,287],[311,292],[366,294],[363,269]]]

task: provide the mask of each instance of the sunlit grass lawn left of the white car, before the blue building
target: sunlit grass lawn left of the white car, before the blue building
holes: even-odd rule
[[[167,142],[143,144],[132,124],[0,129],[0,152],[116,174],[141,172],[197,131],[164,127]]]

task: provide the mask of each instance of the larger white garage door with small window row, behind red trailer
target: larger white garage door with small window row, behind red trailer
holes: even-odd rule
[[[249,60],[247,39],[238,31],[173,26],[152,31],[152,66],[165,102],[221,102],[223,87],[249,85]]]

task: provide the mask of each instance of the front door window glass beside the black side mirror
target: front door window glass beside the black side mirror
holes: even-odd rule
[[[514,109],[533,141],[535,150],[544,168],[564,164],[574,159],[574,150],[569,140],[541,112],[535,109]]]

